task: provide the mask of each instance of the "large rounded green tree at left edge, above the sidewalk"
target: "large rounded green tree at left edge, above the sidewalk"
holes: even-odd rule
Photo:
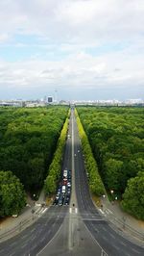
[[[0,216],[18,215],[26,204],[26,194],[12,171],[0,171]]]

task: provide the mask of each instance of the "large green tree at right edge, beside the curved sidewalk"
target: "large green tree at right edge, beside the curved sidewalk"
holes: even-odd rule
[[[135,178],[128,181],[121,206],[132,216],[144,220],[144,172],[138,172]]]

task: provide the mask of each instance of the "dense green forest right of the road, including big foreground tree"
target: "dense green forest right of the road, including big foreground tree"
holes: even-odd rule
[[[77,108],[99,172],[123,209],[144,219],[144,109]]]

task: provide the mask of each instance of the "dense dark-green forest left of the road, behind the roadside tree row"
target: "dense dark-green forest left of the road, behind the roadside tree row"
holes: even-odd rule
[[[27,192],[39,190],[57,147],[68,107],[0,108],[0,170]]]

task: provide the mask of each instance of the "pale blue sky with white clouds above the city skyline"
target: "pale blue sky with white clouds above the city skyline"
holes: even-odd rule
[[[144,99],[143,0],[0,0],[0,99]]]

